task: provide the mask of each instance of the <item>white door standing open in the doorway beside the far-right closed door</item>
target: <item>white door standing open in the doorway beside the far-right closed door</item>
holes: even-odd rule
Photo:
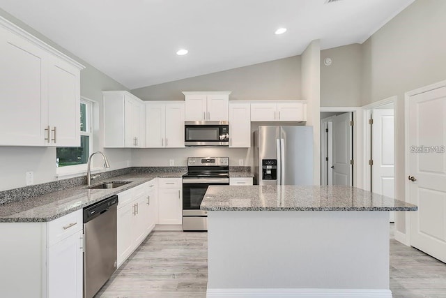
[[[371,156],[371,189],[374,193],[394,198],[394,110],[373,110]],[[390,212],[394,222],[394,212]]]

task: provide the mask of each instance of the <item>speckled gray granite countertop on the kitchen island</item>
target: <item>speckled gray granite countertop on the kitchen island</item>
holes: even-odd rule
[[[352,186],[209,186],[207,211],[417,211],[418,207]]]

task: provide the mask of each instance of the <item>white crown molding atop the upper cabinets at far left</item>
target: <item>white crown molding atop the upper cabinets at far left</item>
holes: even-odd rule
[[[25,40],[28,40],[30,43],[33,43],[34,45],[37,45],[41,49],[53,54],[56,57],[59,57],[60,59],[63,59],[64,61],[67,61],[68,63],[72,64],[73,66],[79,68],[79,70],[82,70],[85,68],[84,65],[77,62],[75,59],[71,59],[66,54],[63,54],[59,50],[56,50],[51,45],[48,45],[47,43],[44,43],[42,40],[36,38],[36,36],[31,35],[31,33],[28,33],[27,31],[24,31],[24,29],[18,27],[16,24],[13,24],[13,22],[10,22],[6,20],[4,17],[0,17],[0,26],[7,29],[8,31],[15,33],[17,36],[20,36],[24,38]]]

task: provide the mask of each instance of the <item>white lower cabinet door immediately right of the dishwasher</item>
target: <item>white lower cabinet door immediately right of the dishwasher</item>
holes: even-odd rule
[[[118,267],[128,258],[133,251],[132,218],[134,217],[134,203],[130,202],[117,211],[118,228]]]

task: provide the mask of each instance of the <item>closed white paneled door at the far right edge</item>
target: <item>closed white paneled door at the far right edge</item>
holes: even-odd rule
[[[446,262],[446,87],[410,96],[408,110],[410,244]]]

